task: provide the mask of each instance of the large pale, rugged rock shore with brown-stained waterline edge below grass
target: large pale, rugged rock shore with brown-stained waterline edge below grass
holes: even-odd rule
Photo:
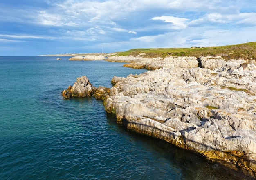
[[[153,70],[114,77],[114,87],[102,91],[105,110],[114,113],[118,123],[256,173],[255,60],[140,56],[107,60]]]

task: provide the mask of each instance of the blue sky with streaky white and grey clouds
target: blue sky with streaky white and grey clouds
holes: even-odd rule
[[[0,56],[256,41],[255,0],[0,0]]]

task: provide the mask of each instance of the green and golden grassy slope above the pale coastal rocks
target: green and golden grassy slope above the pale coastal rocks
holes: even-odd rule
[[[157,48],[157,49],[130,49],[125,52],[119,52],[118,56],[138,56],[139,54],[144,58],[155,58],[166,56],[222,56],[225,60],[230,59],[256,59],[256,42],[249,42],[245,44],[227,45],[218,47],[202,47],[202,48]]]

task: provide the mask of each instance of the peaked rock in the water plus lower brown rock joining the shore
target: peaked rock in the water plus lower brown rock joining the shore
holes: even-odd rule
[[[104,100],[109,93],[109,88],[101,86],[96,88],[92,86],[86,76],[81,76],[76,79],[76,82],[73,86],[69,86],[67,89],[63,90],[62,96],[65,99],[94,96],[96,99]]]

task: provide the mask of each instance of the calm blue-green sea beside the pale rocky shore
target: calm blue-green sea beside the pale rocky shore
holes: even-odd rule
[[[63,99],[77,77],[111,88],[114,76],[147,71],[69,58],[0,56],[0,180],[249,179],[238,177],[239,168],[128,131],[102,100]]]

